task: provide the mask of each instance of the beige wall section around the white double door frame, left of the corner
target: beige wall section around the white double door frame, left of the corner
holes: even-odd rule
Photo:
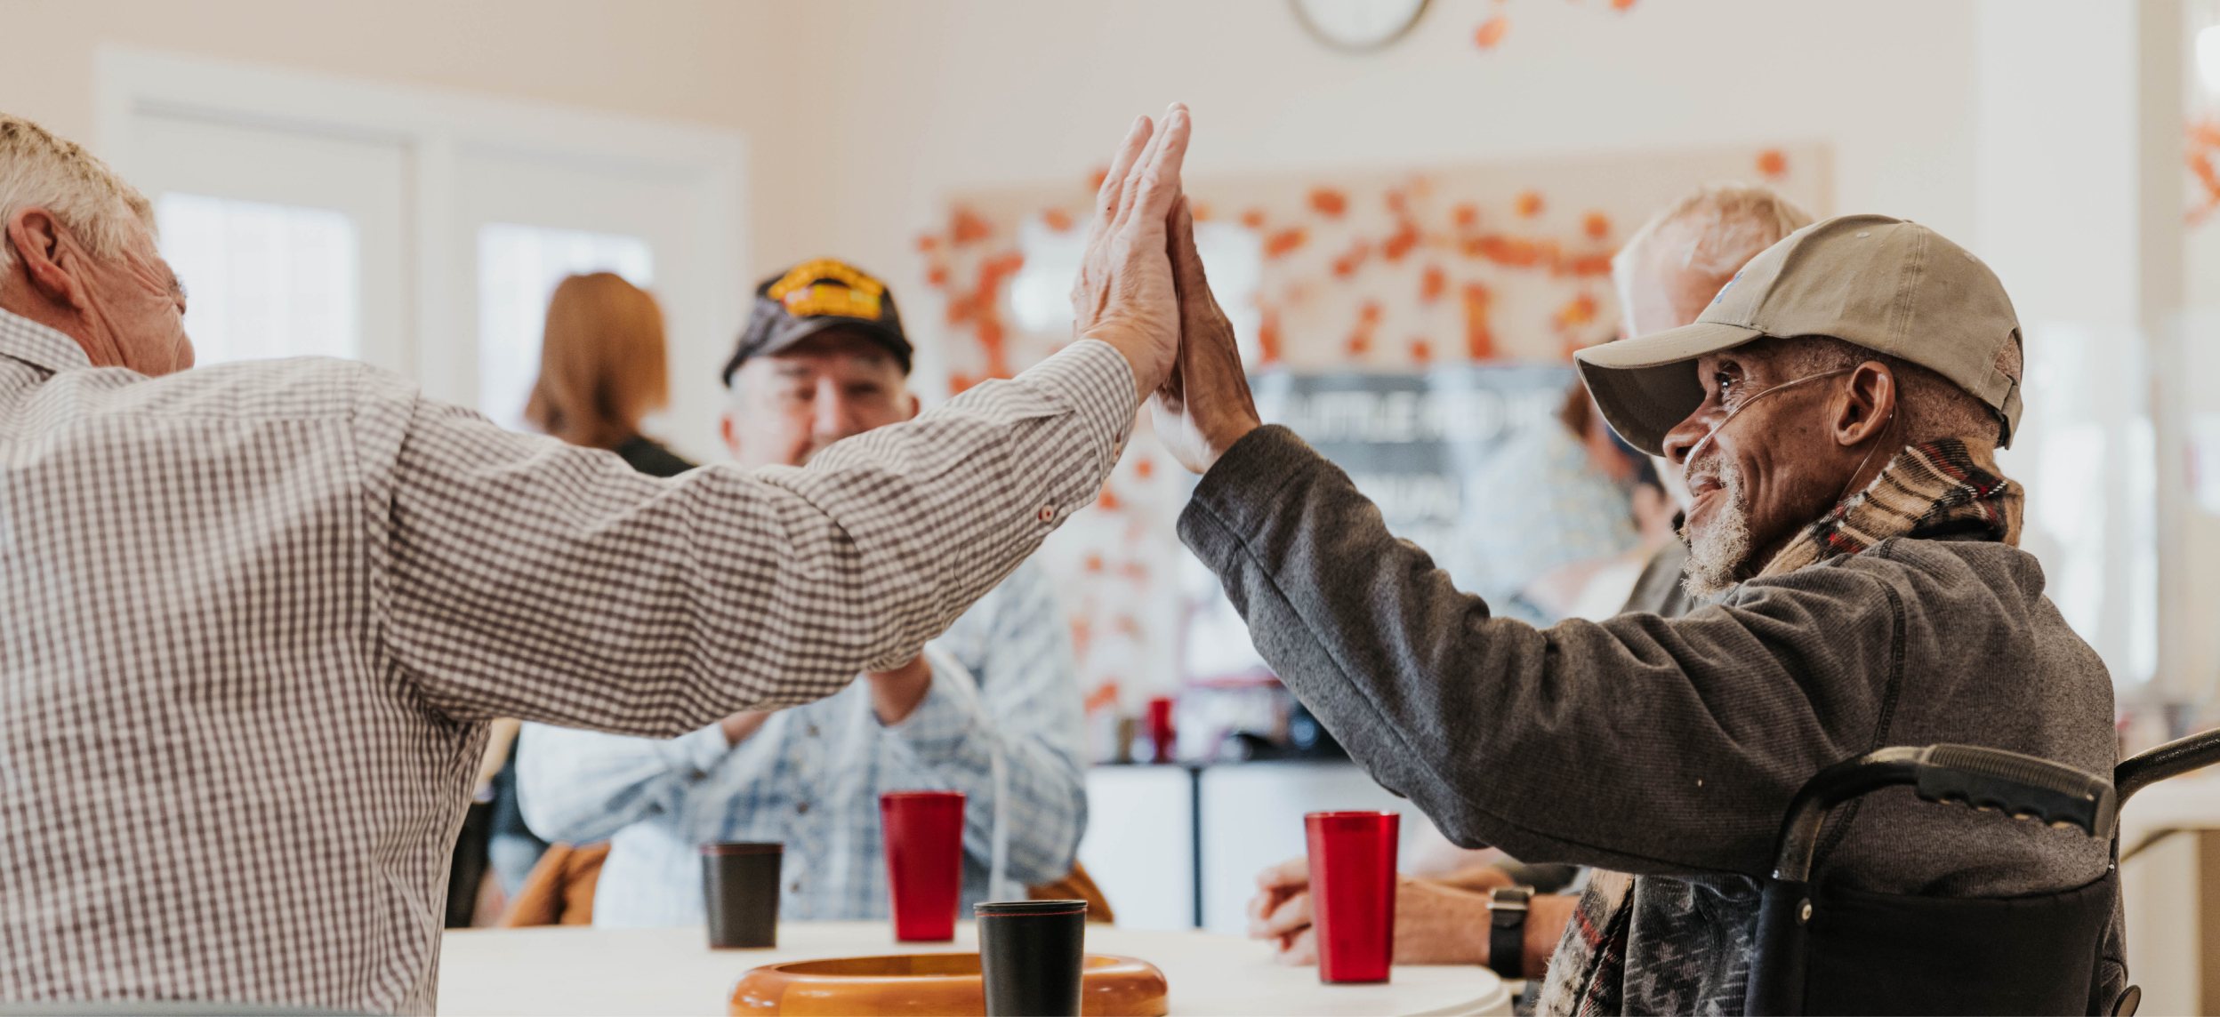
[[[98,151],[93,51],[104,42],[697,122],[779,142],[795,4],[759,0],[0,0],[0,109]],[[801,164],[750,167],[750,249],[799,258],[788,200]],[[753,282],[755,269],[741,266]]]

